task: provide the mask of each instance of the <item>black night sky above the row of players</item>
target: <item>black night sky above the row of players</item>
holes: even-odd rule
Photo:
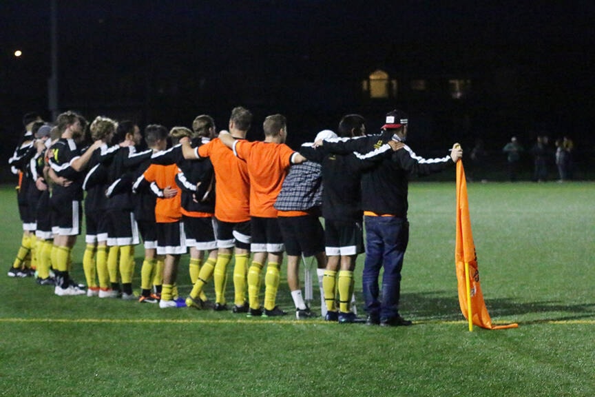
[[[375,127],[381,111],[413,107],[359,105],[353,88],[381,68],[397,79],[479,81],[466,134],[487,122],[505,129],[489,135],[503,142],[544,126],[594,141],[592,1],[56,1],[59,107],[88,118],[173,126],[209,113],[225,128],[231,108],[247,105],[258,126],[286,114],[290,134],[292,125],[304,136],[335,128],[350,112]],[[0,45],[1,132],[12,152],[23,113],[50,118],[50,0],[0,1]],[[432,99],[415,111],[426,105],[440,114]]]

